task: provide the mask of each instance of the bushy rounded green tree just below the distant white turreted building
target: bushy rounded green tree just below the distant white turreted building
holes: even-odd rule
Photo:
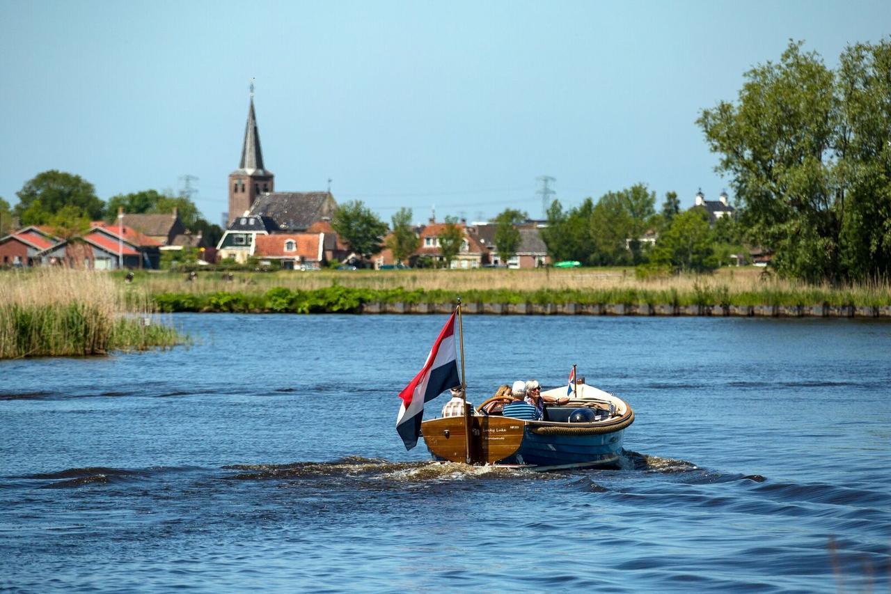
[[[691,209],[674,217],[671,227],[659,235],[650,261],[676,272],[707,272],[717,268],[708,213]]]

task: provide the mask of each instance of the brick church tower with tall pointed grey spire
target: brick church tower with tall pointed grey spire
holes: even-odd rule
[[[248,124],[244,128],[244,144],[241,146],[241,162],[238,169],[229,174],[229,220],[241,217],[257,200],[257,196],[274,191],[275,176],[263,169],[263,151],[260,149],[260,133],[257,131],[257,115],[254,113],[254,83],[250,83],[250,107]]]

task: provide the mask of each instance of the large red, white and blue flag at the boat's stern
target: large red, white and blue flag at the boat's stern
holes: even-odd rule
[[[414,379],[399,392],[402,405],[396,417],[396,432],[405,442],[405,450],[418,444],[421,435],[421,421],[424,417],[424,402],[433,400],[439,394],[461,384],[458,377],[458,355],[454,344],[454,316],[448,318],[446,326],[433,343],[424,367]]]

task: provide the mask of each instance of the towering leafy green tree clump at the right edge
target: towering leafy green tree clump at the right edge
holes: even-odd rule
[[[810,281],[891,274],[891,42],[849,46],[839,62],[790,43],[697,120],[751,239]]]

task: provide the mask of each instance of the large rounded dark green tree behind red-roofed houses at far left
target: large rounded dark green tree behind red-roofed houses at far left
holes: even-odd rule
[[[66,206],[78,208],[88,219],[102,217],[102,201],[93,184],[80,176],[50,169],[25,182],[16,193],[13,212],[24,227],[44,225]]]

